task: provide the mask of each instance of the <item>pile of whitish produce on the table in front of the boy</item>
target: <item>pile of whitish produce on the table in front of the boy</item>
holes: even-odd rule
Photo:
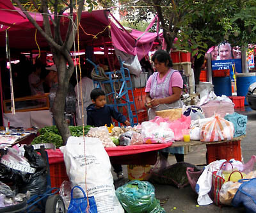
[[[88,132],[88,137],[99,138],[104,147],[115,147],[115,143],[110,139],[108,127],[91,128]]]

